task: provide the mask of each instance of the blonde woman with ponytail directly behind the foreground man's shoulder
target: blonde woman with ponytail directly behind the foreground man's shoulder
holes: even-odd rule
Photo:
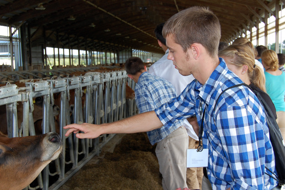
[[[262,68],[255,65],[254,51],[247,45],[233,44],[219,52],[219,57],[225,60],[227,67],[235,75],[262,96],[274,117],[277,118],[274,104],[265,92],[265,77]]]

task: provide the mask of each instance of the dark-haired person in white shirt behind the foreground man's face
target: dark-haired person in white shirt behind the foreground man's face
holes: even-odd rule
[[[157,38],[159,46],[162,47],[163,51],[165,52],[165,55],[160,58],[157,62],[152,64],[149,67],[148,72],[152,75],[159,76],[170,83],[174,86],[177,95],[179,95],[185,87],[191,83],[195,78],[193,75],[189,76],[182,76],[178,69],[175,69],[172,60],[167,59],[169,50],[166,46],[165,38],[162,36],[162,28],[163,28],[164,23],[160,23],[154,33]],[[192,124],[190,124],[189,122]],[[184,127],[187,130],[188,136],[189,136],[189,149],[195,149],[198,147],[198,131],[199,131],[199,126],[196,120],[196,117],[189,118],[189,120],[184,121]],[[197,130],[196,132],[194,131],[193,128]],[[203,177],[203,171],[202,168],[188,168],[187,169],[187,185],[188,188],[191,189],[201,189],[201,184],[202,184],[202,177]]]

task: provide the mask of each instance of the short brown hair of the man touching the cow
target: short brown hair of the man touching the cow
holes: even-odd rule
[[[218,56],[221,25],[218,17],[205,7],[190,7],[165,22],[162,35],[173,35],[175,43],[186,52],[193,43],[204,46],[211,57]]]

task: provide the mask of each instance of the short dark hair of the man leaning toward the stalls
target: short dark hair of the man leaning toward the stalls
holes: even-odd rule
[[[144,62],[139,57],[130,57],[125,64],[127,74],[136,75],[145,69]]]

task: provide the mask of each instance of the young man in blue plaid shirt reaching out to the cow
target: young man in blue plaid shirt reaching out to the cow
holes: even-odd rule
[[[265,174],[267,169],[275,174],[276,170],[262,105],[245,86],[219,97],[223,90],[243,82],[218,57],[221,28],[217,16],[207,8],[191,7],[173,15],[162,34],[170,51],[168,59],[181,75],[193,74],[196,80],[154,111],[110,124],[68,125],[65,135],[83,131],[76,136],[96,138],[149,131],[196,115],[203,129],[203,147],[208,149],[207,177],[213,189],[274,188],[276,180]]]

